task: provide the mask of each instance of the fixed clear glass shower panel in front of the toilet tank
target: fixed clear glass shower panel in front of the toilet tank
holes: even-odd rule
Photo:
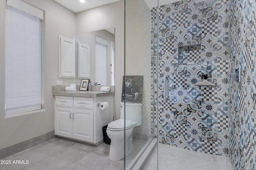
[[[125,130],[125,169],[128,170],[154,139],[151,126],[150,35],[151,12],[146,2],[125,0],[125,76],[122,95],[126,123],[131,120],[133,124],[132,129],[126,125]]]

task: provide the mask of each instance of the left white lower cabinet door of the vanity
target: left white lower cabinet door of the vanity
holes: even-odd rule
[[[72,109],[55,108],[55,134],[72,137]]]

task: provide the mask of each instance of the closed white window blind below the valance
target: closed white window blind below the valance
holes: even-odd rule
[[[41,20],[6,5],[6,115],[42,108]]]

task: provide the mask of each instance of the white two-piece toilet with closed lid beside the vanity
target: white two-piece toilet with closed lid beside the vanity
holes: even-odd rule
[[[125,156],[131,152],[132,131],[134,127],[142,125],[142,104],[126,102],[125,119],[124,127],[124,102],[121,102],[120,119],[110,122],[107,128],[108,137],[111,139],[109,159],[113,161],[124,158],[124,141]]]

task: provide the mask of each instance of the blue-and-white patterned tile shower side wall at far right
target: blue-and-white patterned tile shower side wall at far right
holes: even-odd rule
[[[242,70],[241,82],[229,81],[229,157],[235,170],[256,169],[255,15],[254,0],[230,1],[229,70]]]

